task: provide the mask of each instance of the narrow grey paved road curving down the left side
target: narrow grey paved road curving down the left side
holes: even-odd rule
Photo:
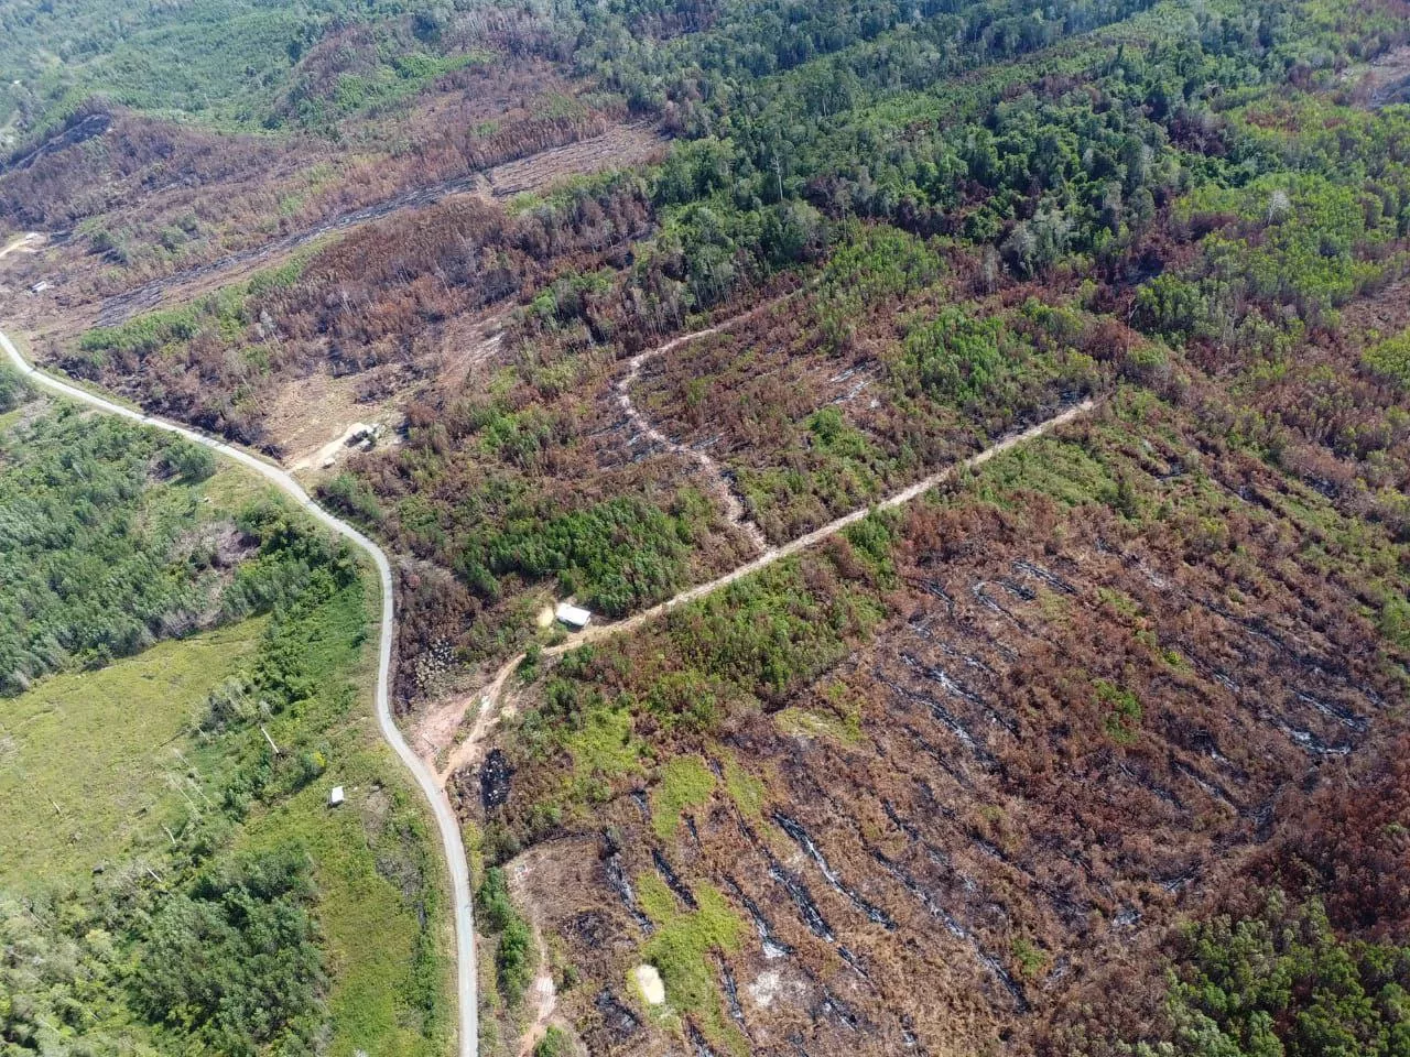
[[[402,737],[402,731],[392,720],[391,681],[395,600],[392,596],[392,567],[388,564],[382,548],[362,536],[362,533],[357,528],[345,521],[340,521],[321,506],[314,503],[299,482],[279,466],[265,462],[264,459],[251,455],[248,451],[243,451],[226,444],[224,441],[197,433],[186,426],[178,426],[176,423],[166,421],[164,419],[154,419],[148,414],[142,414],[141,412],[134,412],[130,407],[123,407],[111,400],[104,400],[102,396],[94,396],[85,389],[79,389],[78,386],[62,382],[52,375],[37,371],[34,365],[20,354],[20,350],[16,348],[14,342],[10,341],[4,333],[0,333],[0,348],[4,350],[17,371],[25,375],[35,385],[48,389],[52,393],[86,403],[87,406],[96,407],[107,414],[117,414],[123,419],[141,423],[142,426],[151,426],[157,430],[175,433],[189,441],[203,444],[226,458],[234,459],[240,465],[252,469],[255,474],[265,478],[265,481],[269,481],[282,492],[288,493],[314,520],[327,526],[338,536],[350,540],[355,547],[360,547],[376,565],[376,572],[382,581],[382,634],[378,641],[376,661],[376,722],[382,730],[382,737],[386,738],[388,744],[392,746],[392,750],[398,757],[400,757],[402,762],[416,778],[416,784],[430,802],[431,812],[436,816],[436,826],[440,830],[441,846],[446,853],[446,864],[450,868],[451,892],[455,905],[455,989],[460,1002],[458,1054],[460,1057],[478,1057],[479,1026],[475,995],[475,929],[471,916],[470,868],[465,861],[465,848],[460,839],[460,820],[455,817],[455,812],[451,808],[450,801],[446,798],[440,781],[426,762],[410,750],[410,746],[407,746],[406,740]]]

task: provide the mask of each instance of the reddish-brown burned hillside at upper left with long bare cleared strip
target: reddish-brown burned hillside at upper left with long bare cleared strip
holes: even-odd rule
[[[72,338],[393,213],[530,194],[661,151],[657,123],[581,100],[587,86],[554,63],[478,55],[334,137],[221,134],[94,104],[0,168],[6,227],[54,240],[14,276],[52,292],[17,307]]]

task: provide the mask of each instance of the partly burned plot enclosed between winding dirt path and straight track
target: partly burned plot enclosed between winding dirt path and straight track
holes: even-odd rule
[[[1094,319],[969,297],[952,258],[849,228],[815,283],[647,361],[634,402],[784,543],[1103,385]]]

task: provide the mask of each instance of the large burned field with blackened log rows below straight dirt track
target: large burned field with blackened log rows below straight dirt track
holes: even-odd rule
[[[1073,502],[1094,483],[1118,509]],[[640,961],[716,1053],[1060,1051],[1115,967],[1156,992],[1169,925],[1403,731],[1366,616],[1399,548],[1363,538],[1328,583],[1348,533],[1132,395],[570,655],[522,692],[508,784],[460,788],[492,854],[527,848],[595,1051],[673,1033]]]

